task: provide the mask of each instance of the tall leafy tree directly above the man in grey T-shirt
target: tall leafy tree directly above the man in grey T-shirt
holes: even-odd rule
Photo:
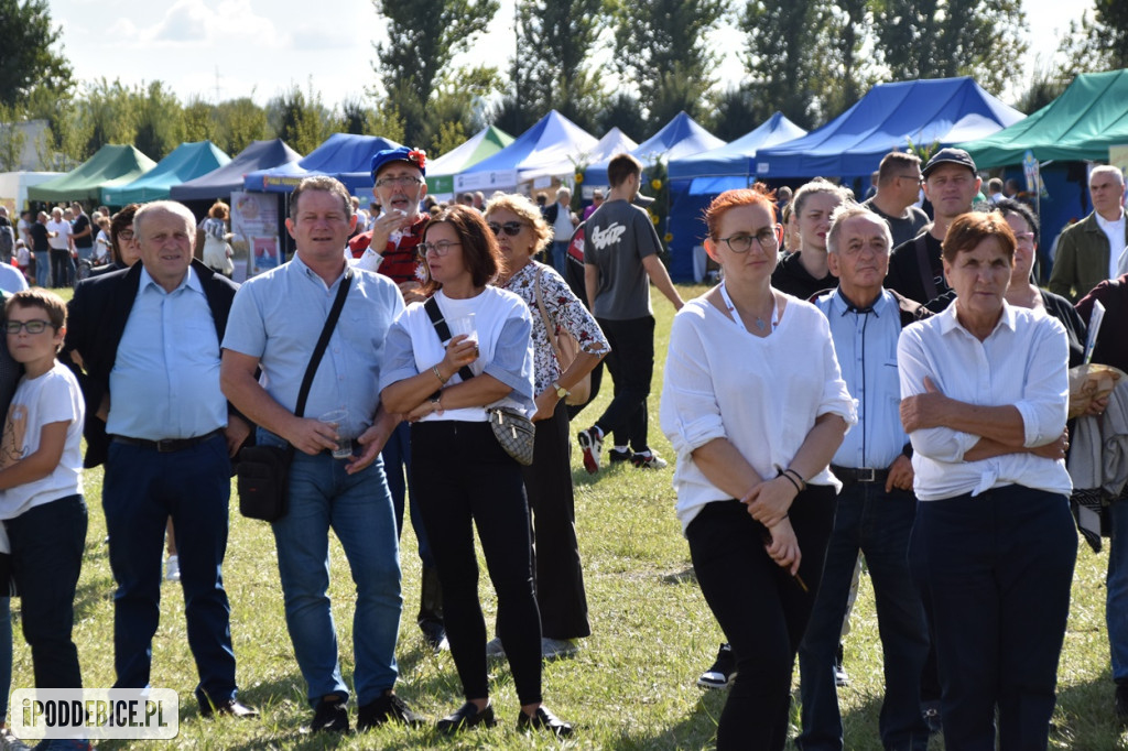
[[[608,0],[615,19],[615,64],[638,87],[652,126],[685,109],[700,114],[702,95],[713,85],[716,55],[707,36],[721,23],[726,0]],[[687,89],[697,97],[687,101]]]

